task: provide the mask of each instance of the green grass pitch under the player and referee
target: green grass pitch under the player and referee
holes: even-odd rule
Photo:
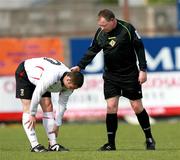
[[[41,124],[36,126],[39,142],[47,146]],[[157,122],[152,126],[156,150],[146,151],[144,135],[137,125],[120,122],[116,151],[97,151],[106,142],[104,123],[65,123],[58,142],[70,152],[31,153],[20,124],[0,126],[0,160],[178,160],[180,159],[180,123]]]

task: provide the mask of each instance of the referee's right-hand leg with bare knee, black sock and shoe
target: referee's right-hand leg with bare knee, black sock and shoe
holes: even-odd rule
[[[142,100],[130,100],[131,106],[136,113],[139,124],[145,134],[146,137],[146,149],[154,150],[155,149],[155,141],[152,137],[151,133],[151,125],[149,121],[149,115],[147,114],[145,108],[143,108]]]

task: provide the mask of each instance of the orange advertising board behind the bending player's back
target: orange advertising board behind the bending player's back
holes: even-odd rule
[[[0,76],[14,75],[18,64],[33,57],[64,60],[63,42],[58,37],[0,38]]]

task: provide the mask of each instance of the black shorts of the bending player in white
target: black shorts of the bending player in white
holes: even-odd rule
[[[36,86],[29,81],[24,68],[24,62],[22,62],[16,69],[15,78],[16,98],[31,99]],[[42,97],[51,97],[51,93],[46,92]]]

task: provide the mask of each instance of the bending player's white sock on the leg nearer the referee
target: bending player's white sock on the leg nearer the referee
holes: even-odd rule
[[[53,130],[55,124],[53,112],[44,112],[43,113],[43,126],[46,130],[46,134],[49,140],[50,146],[56,144],[56,135],[55,133],[50,133]]]

